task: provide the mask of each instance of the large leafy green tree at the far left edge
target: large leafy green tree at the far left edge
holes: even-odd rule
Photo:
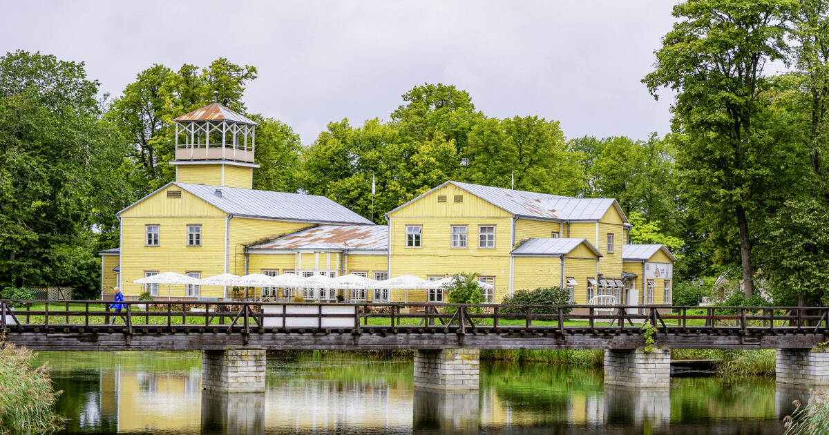
[[[27,85],[0,95],[0,287],[65,284],[95,239],[114,237],[126,150],[82,64],[24,51],[9,63],[0,82]],[[76,246],[87,249],[67,254]]]

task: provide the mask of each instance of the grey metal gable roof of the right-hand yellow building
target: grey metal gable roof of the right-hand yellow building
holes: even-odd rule
[[[459,181],[446,181],[444,184],[414,198],[414,200],[400,205],[395,210],[391,210],[388,214],[400,210],[406,205],[417,201],[420,197],[425,196],[430,191],[439,189],[447,184],[458,186],[464,191],[468,191],[483,201],[487,201],[492,205],[506,210],[512,215],[549,220],[599,220],[607,213],[610,207],[615,206],[619,215],[622,215],[622,219],[625,222],[628,221],[622,208],[612,198],[573,198],[571,196],[550,195],[548,193],[514,191],[502,187],[481,186]]]

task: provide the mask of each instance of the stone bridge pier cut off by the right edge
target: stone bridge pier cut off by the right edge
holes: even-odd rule
[[[822,348],[778,349],[777,382],[829,385],[829,352]]]

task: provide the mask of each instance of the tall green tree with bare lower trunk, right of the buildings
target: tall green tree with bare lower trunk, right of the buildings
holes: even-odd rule
[[[764,66],[784,60],[791,0],[691,0],[676,5],[679,21],[656,51],[643,82],[656,96],[676,92],[674,131],[684,133],[677,162],[692,204],[714,231],[736,228],[745,292],[754,292],[754,239],[749,210],[764,201],[780,143],[764,131]],[[771,151],[771,152],[769,152]],[[785,162],[786,159],[783,159]],[[730,239],[726,234],[724,239]]]

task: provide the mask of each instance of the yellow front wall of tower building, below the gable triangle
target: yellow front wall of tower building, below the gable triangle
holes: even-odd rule
[[[126,296],[138,296],[143,285],[133,283],[144,271],[201,272],[201,278],[225,272],[225,217],[122,217],[122,284]],[[158,246],[145,246],[145,225],[158,225]],[[187,225],[201,225],[201,246],[187,246]],[[163,288],[162,288],[163,287]],[[159,296],[167,296],[159,286]],[[184,297],[183,285],[170,287],[171,296]],[[201,288],[201,297],[223,297],[224,288]]]

